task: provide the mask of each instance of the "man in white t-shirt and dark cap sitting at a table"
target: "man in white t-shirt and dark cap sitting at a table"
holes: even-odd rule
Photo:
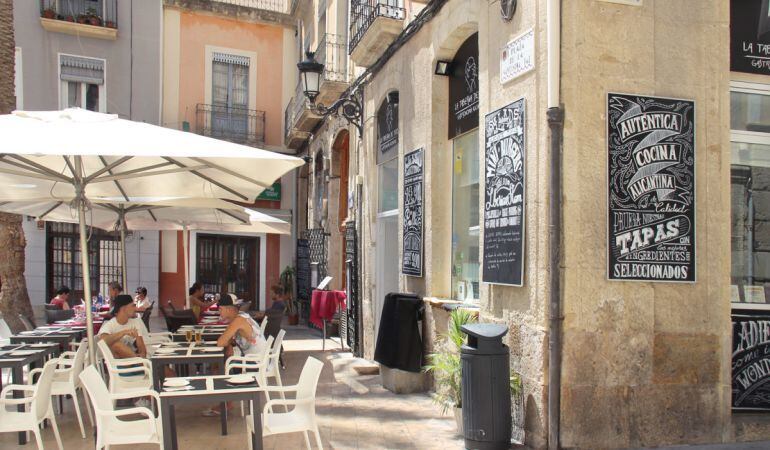
[[[137,319],[136,305],[130,295],[121,294],[113,300],[113,318],[99,330],[99,338],[112,350],[115,358],[147,357],[145,341],[149,333],[141,319]]]

